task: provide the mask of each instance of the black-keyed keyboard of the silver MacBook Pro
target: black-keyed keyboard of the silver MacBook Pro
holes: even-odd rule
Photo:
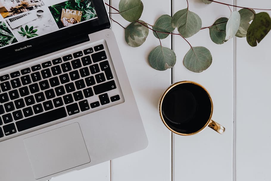
[[[108,95],[116,82],[103,44],[1,75],[0,87],[0,137],[121,99]]]

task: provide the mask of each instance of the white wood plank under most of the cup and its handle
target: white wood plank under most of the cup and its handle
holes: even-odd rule
[[[221,0],[233,4],[231,0]],[[187,7],[186,1],[174,1],[175,12]],[[227,6],[200,1],[189,1],[189,10],[197,13],[208,27],[220,17],[229,17]],[[226,130],[220,135],[210,128],[192,136],[175,135],[175,180],[233,180],[233,40],[222,45],[214,44],[209,30],[200,30],[187,38],[193,47],[203,46],[210,50],[212,65],[201,73],[188,71],[183,66],[183,58],[190,46],[179,36],[175,36],[174,49],[177,63],[174,67],[175,82],[190,80],[203,85],[214,103],[212,119]]]

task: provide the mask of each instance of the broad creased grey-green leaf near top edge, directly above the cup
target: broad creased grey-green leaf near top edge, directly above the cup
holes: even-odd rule
[[[177,27],[184,38],[189,38],[200,31],[201,25],[200,17],[188,8],[177,11],[172,17],[172,27]]]

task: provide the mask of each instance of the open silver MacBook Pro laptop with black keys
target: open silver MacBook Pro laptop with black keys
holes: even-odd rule
[[[17,32],[0,20],[5,181],[49,180],[148,145],[104,1],[43,4],[50,16]]]

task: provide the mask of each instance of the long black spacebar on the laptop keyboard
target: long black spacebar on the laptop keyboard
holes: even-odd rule
[[[40,126],[45,123],[50,123],[54,120],[58,120],[66,116],[67,113],[65,107],[61,107],[49,112],[42,113],[40,115],[36,115],[33,117],[26,118],[24,120],[17,121],[16,126],[18,131],[20,132],[30,128],[34,128],[36,126]]]

